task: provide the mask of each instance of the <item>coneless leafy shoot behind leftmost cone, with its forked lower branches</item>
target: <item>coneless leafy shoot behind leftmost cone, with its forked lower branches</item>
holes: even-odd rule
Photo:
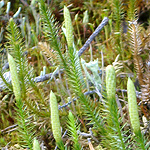
[[[17,27],[17,25],[15,24],[12,18],[9,20],[7,30],[8,33],[6,37],[8,39],[7,42],[8,46],[6,46],[6,48],[15,59],[17,65],[16,67],[18,72],[18,78],[20,81],[22,100],[25,101],[26,105],[28,105],[29,107],[31,106],[27,102],[27,98],[26,98],[27,88],[29,88],[30,86],[35,91],[36,95],[39,97],[42,103],[45,104],[44,98],[42,97],[40,90],[37,88],[35,82],[32,80],[33,75],[32,72],[29,70],[27,60],[24,54],[25,51],[24,42],[21,38],[19,28]],[[32,107],[30,107],[30,109],[33,109],[35,112],[35,107],[33,105]],[[36,112],[38,112],[38,109],[36,109]]]

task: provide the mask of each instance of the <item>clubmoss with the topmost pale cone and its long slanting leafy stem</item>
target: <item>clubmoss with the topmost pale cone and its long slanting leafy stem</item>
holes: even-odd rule
[[[75,93],[76,96],[78,97],[79,102],[82,104],[82,106],[85,109],[85,114],[87,115],[87,119],[91,120],[91,124],[98,127],[101,133],[106,133],[103,127],[103,122],[100,120],[101,117],[99,111],[96,109],[95,104],[90,102],[89,97],[86,97],[83,94],[84,82],[82,78],[79,57],[78,57],[78,53],[76,53],[75,47],[73,47],[73,43],[71,43],[73,42],[72,41],[73,33],[67,31],[69,30],[68,25],[72,26],[71,17],[69,11],[66,10],[67,8],[64,9],[65,9],[64,21],[67,22],[67,24],[65,24],[66,33],[69,33],[68,36],[66,36],[66,38],[68,38],[67,42],[69,41],[69,43],[67,43],[68,44],[68,59],[67,59],[68,68],[66,68],[66,73],[68,76],[71,91]]]

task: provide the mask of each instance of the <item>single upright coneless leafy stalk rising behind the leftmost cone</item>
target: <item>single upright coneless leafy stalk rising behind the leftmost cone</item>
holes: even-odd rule
[[[25,76],[27,74],[27,69],[25,66],[24,59],[24,45],[22,42],[22,38],[20,37],[19,29],[17,28],[14,20],[11,18],[9,20],[9,25],[7,27],[7,39],[8,46],[6,47],[9,53],[14,57],[17,68],[19,70],[18,77],[20,80],[21,86],[21,95],[24,99],[26,96],[26,85],[25,85]]]

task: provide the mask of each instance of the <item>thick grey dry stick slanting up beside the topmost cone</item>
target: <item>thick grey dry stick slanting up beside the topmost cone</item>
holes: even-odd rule
[[[78,52],[78,56],[80,57],[82,53],[89,47],[90,43],[94,40],[94,38],[98,35],[98,33],[102,30],[102,28],[108,23],[108,18],[104,17],[100,25],[96,28],[96,30],[92,33],[92,35],[88,38],[85,44]]]

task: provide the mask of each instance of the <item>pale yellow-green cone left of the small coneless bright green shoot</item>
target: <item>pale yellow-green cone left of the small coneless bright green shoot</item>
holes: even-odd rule
[[[56,144],[60,149],[64,149],[62,137],[61,137],[61,127],[59,120],[58,104],[55,94],[50,92],[50,109],[51,109],[51,124],[53,136],[56,140]]]

